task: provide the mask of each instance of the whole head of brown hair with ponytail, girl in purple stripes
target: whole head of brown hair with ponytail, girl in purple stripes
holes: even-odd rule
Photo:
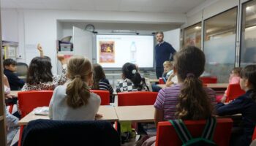
[[[199,80],[204,71],[206,57],[202,50],[189,46],[174,55],[174,68],[183,82],[176,106],[176,118],[199,120],[212,116],[214,108]]]

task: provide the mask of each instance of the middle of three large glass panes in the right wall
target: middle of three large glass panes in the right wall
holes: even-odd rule
[[[206,72],[228,82],[235,66],[237,7],[205,20]]]

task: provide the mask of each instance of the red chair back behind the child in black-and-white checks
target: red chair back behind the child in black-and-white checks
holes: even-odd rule
[[[123,92],[117,96],[118,106],[153,105],[157,99],[157,92]]]

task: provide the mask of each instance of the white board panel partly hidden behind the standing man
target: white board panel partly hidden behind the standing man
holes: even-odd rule
[[[173,46],[173,48],[178,51],[180,49],[180,33],[181,29],[173,29],[171,31],[165,31],[164,32],[164,40],[165,42],[170,43],[170,45]]]

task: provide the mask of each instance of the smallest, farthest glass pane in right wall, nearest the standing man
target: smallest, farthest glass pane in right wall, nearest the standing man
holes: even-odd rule
[[[184,29],[184,47],[189,45],[201,48],[202,23],[197,23]]]

